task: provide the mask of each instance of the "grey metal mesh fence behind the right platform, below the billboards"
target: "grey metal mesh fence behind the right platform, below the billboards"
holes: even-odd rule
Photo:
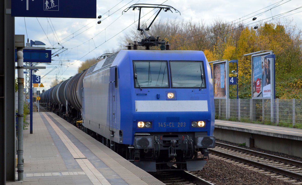
[[[302,128],[302,99],[215,99],[215,118]]]

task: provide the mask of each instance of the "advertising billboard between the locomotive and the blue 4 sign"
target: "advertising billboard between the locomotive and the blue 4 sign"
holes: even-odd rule
[[[228,98],[229,69],[226,61],[213,63],[214,98]]]

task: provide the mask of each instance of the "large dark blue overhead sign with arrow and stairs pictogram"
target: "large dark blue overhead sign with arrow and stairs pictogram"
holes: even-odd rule
[[[11,0],[11,16],[96,18],[96,0]]]

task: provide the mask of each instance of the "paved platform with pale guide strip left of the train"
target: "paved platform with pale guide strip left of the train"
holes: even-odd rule
[[[34,112],[33,134],[24,130],[24,181],[6,184],[164,183],[56,114]]]

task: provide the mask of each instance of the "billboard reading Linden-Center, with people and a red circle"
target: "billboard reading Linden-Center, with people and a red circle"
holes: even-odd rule
[[[252,55],[252,98],[275,97],[275,55]]]

